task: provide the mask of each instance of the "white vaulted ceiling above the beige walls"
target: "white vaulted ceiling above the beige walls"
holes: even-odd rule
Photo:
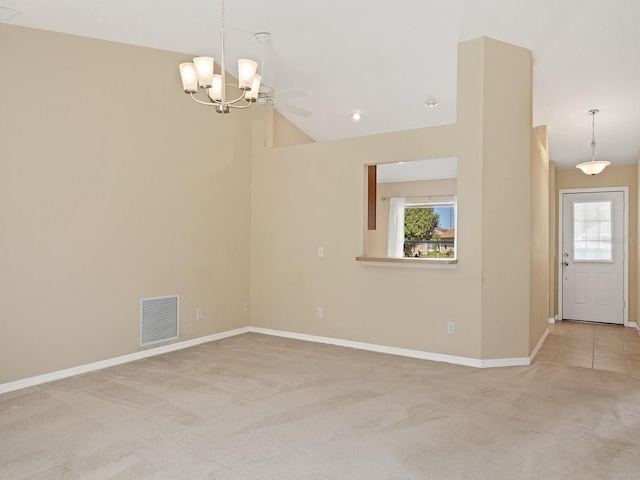
[[[220,57],[221,0],[0,0],[0,7],[0,21],[14,25]],[[591,108],[600,110],[598,157],[614,165],[638,158],[636,0],[226,0],[226,31],[227,65],[240,57],[260,63],[254,34],[271,33],[264,82],[306,94],[286,102],[283,95],[281,112],[317,141],[454,123],[456,46],[484,35],[531,50],[533,121],[548,125],[558,168],[591,158]],[[177,66],[175,74],[178,88]],[[426,107],[428,98],[437,107]]]

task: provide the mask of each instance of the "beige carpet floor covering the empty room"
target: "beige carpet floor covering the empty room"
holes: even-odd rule
[[[244,334],[0,395],[2,479],[634,479],[640,377]]]

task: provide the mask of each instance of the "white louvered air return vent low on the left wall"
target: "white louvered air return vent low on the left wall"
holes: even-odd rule
[[[178,295],[140,299],[140,346],[178,338]]]

